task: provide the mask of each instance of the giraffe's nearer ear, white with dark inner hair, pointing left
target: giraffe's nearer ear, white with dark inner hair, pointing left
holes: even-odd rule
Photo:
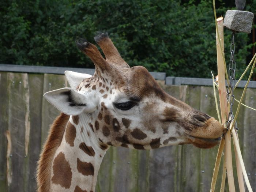
[[[81,94],[72,88],[49,91],[44,94],[44,97],[54,107],[67,115],[78,115],[83,111],[94,112],[99,103],[93,91]]]

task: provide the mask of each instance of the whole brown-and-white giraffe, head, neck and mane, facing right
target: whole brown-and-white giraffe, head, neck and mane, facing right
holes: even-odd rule
[[[39,192],[94,192],[110,146],[143,150],[219,143],[223,127],[217,120],[167,94],[146,68],[130,68],[107,33],[94,39],[105,58],[86,39],[76,41],[93,61],[94,75],[65,71],[71,87],[44,94],[61,114],[39,158]]]

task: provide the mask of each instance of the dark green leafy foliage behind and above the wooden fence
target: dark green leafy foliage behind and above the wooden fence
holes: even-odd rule
[[[222,4],[222,3],[220,3]],[[217,74],[212,3],[201,0],[1,1],[0,63],[94,68],[75,46],[108,31],[130,66],[169,76]],[[218,15],[228,7],[222,4]],[[231,33],[225,30],[227,63]],[[246,66],[248,35],[236,37],[237,75]]]

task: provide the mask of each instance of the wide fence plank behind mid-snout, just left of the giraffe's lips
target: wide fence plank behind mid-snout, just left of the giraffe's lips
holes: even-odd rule
[[[163,86],[166,93],[177,99],[185,100],[184,86]],[[179,191],[181,187],[182,146],[169,146],[150,150],[149,188],[154,191]],[[164,170],[164,171],[163,171]],[[166,179],[163,180],[163,177]]]

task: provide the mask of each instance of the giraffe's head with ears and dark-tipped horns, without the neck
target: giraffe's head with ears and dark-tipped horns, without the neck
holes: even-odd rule
[[[71,88],[50,91],[46,99],[61,112],[89,115],[88,125],[105,146],[151,149],[192,143],[215,146],[223,128],[213,117],[165,93],[146,68],[130,68],[108,34],[76,43],[95,64],[93,76],[66,71]]]

